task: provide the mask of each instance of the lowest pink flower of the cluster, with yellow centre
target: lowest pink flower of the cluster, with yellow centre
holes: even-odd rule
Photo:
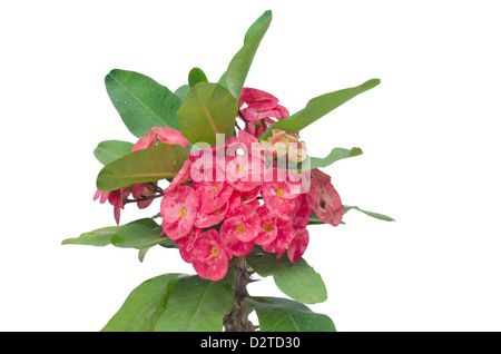
[[[202,278],[213,282],[224,278],[228,272],[230,258],[232,255],[227,252],[219,234],[214,228],[200,233],[195,239],[191,264]]]

